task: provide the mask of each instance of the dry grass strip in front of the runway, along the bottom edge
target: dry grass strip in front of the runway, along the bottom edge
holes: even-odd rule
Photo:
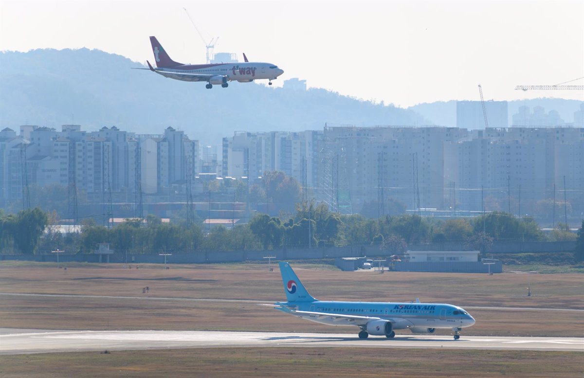
[[[378,348],[171,349],[0,356],[20,377],[582,377],[584,354]]]

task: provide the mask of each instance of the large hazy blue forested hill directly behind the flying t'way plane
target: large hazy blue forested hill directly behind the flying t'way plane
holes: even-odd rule
[[[356,125],[427,124],[412,110],[383,106],[323,89],[297,91],[256,83],[205,89],[131,67],[99,50],[0,53],[0,128],[21,124],[86,130],[116,125],[161,134],[172,125],[191,138],[219,143],[233,131],[302,131],[325,122]],[[285,77],[279,80],[287,79]],[[343,80],[343,78],[339,78]]]

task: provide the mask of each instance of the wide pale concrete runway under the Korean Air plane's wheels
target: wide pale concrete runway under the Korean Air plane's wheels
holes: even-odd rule
[[[49,331],[0,329],[0,354],[225,347],[452,348],[584,352],[579,337],[479,337],[234,331]]]

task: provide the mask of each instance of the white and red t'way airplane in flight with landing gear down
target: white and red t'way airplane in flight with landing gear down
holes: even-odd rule
[[[182,64],[173,61],[166,54],[156,37],[150,37],[150,43],[157,67],[153,68],[150,62],[146,61],[150,71],[176,80],[207,82],[207,89],[218,84],[227,88],[229,81],[249,83],[258,79],[268,79],[269,85],[272,85],[272,80],[284,73],[277,65],[271,63],[249,62],[245,54],[244,63]]]

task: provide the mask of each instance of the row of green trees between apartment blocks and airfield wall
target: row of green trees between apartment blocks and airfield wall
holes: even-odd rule
[[[411,244],[464,243],[484,251],[493,241],[578,240],[584,248],[584,232],[569,232],[559,225],[545,235],[533,218],[516,218],[492,212],[476,218],[439,220],[406,214],[370,219],[362,215],[340,215],[326,204],[301,202],[290,216],[257,213],[244,225],[232,229],[200,222],[179,220],[164,223],[154,215],[126,219],[111,228],[89,220],[79,233],[61,234],[48,227],[55,214],[39,208],[15,214],[0,210],[0,251],[2,253],[93,253],[99,243],[110,243],[117,253],[187,253],[193,251],[273,250],[279,248],[376,245],[391,253],[401,253]],[[47,232],[44,232],[47,230]],[[44,233],[43,233],[44,232]],[[583,253],[584,254],[584,253]]]

